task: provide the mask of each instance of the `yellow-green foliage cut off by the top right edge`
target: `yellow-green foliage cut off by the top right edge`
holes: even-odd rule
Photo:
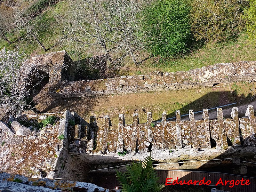
[[[256,0],[250,0],[250,7],[244,12],[249,37],[256,39]]]

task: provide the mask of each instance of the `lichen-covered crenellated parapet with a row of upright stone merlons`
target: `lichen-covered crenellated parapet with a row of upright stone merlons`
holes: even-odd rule
[[[139,123],[138,113],[133,114],[133,124],[125,124],[124,114],[119,114],[118,126],[112,125],[109,116],[96,120],[91,117],[90,129],[94,130],[94,148],[87,153],[130,153],[148,150],[217,148],[228,146],[254,146],[255,116],[253,107],[248,105],[246,117],[238,117],[237,107],[233,107],[231,118],[224,118],[222,108],[217,108],[217,119],[209,119],[207,109],[203,109],[202,119],[195,120],[194,111],[189,110],[189,120],[181,120],[176,111],[175,121],[167,121],[166,112],[161,122],[153,122],[152,114],[147,113],[147,123]],[[100,122],[101,121],[101,122]],[[97,122],[101,126],[97,126]],[[97,137],[95,137],[97,135]],[[89,138],[89,136],[88,136]]]

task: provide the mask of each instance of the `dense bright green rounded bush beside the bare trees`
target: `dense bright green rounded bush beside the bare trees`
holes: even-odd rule
[[[187,50],[190,35],[186,0],[153,1],[142,13],[142,33],[148,51],[161,57],[172,57]]]

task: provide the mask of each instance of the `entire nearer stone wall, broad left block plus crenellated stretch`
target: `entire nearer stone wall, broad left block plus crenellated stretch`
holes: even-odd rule
[[[34,131],[33,127],[20,125],[16,119],[12,120],[11,126],[0,121],[1,171],[33,178],[86,181],[89,164],[142,160],[148,151],[154,153],[155,160],[163,161],[171,158],[167,152],[177,149],[180,152],[190,150],[195,153],[194,157],[201,157],[201,152],[197,154],[199,148],[209,151],[216,146],[223,152],[228,146],[256,144],[256,119],[250,105],[246,117],[242,118],[238,117],[236,107],[232,109],[231,118],[223,118],[222,108],[218,108],[217,119],[212,120],[207,109],[203,110],[202,120],[195,120],[193,110],[189,110],[189,120],[186,121],[181,120],[180,111],[176,111],[175,121],[167,121],[164,112],[162,121],[155,123],[152,114],[148,113],[147,123],[143,124],[134,113],[133,124],[125,124],[124,115],[120,114],[116,126],[111,124],[109,116],[92,116],[87,123],[69,111],[22,115],[18,119],[33,123],[50,115],[59,117],[56,124]],[[62,135],[63,140],[60,139]],[[124,151],[128,155],[119,157],[119,152]]]

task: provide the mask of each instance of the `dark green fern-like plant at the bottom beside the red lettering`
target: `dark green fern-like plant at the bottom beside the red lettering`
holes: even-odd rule
[[[153,166],[153,157],[145,157],[144,162],[133,163],[127,166],[127,172],[116,172],[121,182],[123,192],[157,192],[162,187],[158,183],[159,178]]]

